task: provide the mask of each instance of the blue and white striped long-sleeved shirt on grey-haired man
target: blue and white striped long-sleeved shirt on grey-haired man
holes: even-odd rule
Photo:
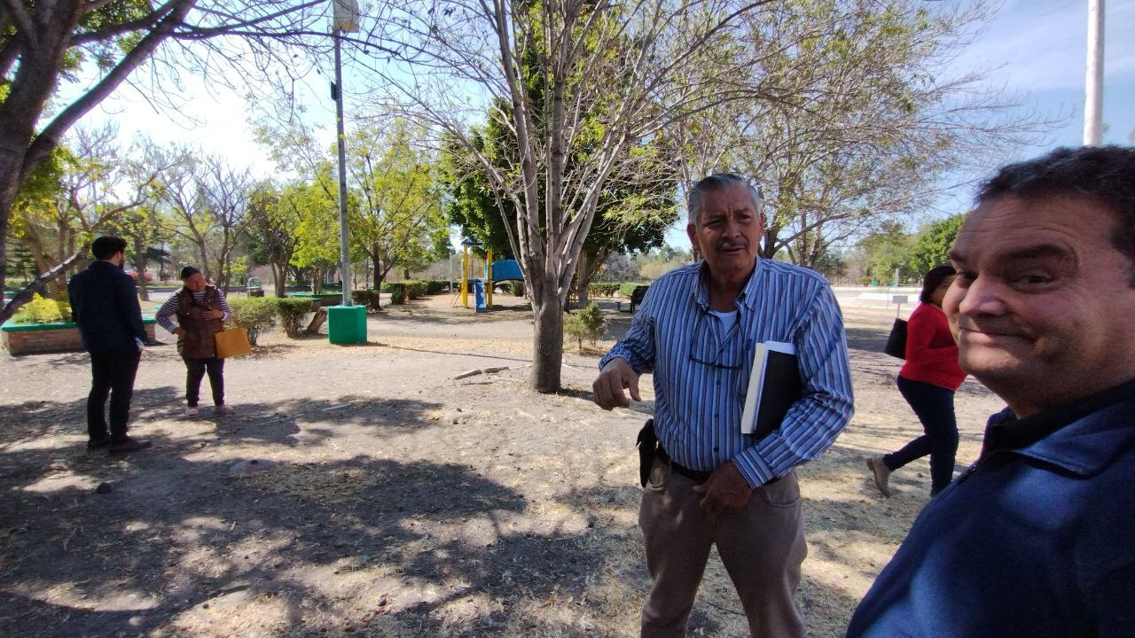
[[[757,259],[728,333],[709,311],[703,266],[671,270],[650,285],[619,356],[654,371],[654,427],[674,462],[712,471],[732,460],[753,487],[817,459],[851,419],[851,370],[843,317],[819,274]],[[724,333],[724,334],[723,334]],[[796,346],[804,397],[762,440],[741,434],[741,412],[757,343]]]

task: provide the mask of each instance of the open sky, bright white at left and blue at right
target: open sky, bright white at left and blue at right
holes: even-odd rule
[[[952,0],[938,1],[947,5]],[[1130,35],[1135,33],[1135,1],[1107,1],[1104,16],[1103,142],[1135,144],[1135,37]],[[952,62],[951,72],[956,73],[987,69],[991,85],[1019,101],[1022,114],[1063,117],[1063,126],[1042,146],[1024,149],[1022,157],[1011,159],[1082,143],[1086,34],[1086,0],[1006,0]],[[155,112],[136,91],[125,89],[106,100],[83,125],[109,119],[117,123],[126,141],[144,134],[159,143],[199,145],[234,163],[246,163],[261,176],[270,175],[271,162],[252,140],[247,101],[227,90],[205,87],[200,79],[186,77],[184,82],[190,99],[176,118]],[[328,140],[334,138],[329,133],[335,121],[334,102],[326,76],[312,75],[301,93],[308,107],[305,119],[325,120]],[[346,109],[350,111],[350,102]],[[973,185],[958,187],[935,207],[935,215],[964,212],[972,195]],[[681,223],[667,234],[667,241],[680,246],[688,243]]]

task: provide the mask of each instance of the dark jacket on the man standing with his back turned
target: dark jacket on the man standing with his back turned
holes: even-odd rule
[[[78,325],[83,347],[118,350],[146,343],[134,279],[109,261],[95,261],[67,285],[72,320]]]

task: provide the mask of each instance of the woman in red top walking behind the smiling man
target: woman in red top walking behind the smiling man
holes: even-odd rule
[[[953,417],[953,393],[966,378],[958,366],[958,344],[950,334],[942,299],[953,283],[950,266],[932,268],[923,278],[920,304],[907,324],[907,362],[899,370],[902,397],[922,421],[923,436],[902,450],[867,459],[867,468],[883,496],[890,496],[891,472],[915,459],[930,454],[930,495],[934,496],[953,479],[953,457],[958,452],[958,422]]]

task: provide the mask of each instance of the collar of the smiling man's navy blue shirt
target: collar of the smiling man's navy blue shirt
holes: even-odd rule
[[[1006,408],[985,426],[981,459],[1008,451],[1092,475],[1133,444],[1135,379],[1024,419]]]

